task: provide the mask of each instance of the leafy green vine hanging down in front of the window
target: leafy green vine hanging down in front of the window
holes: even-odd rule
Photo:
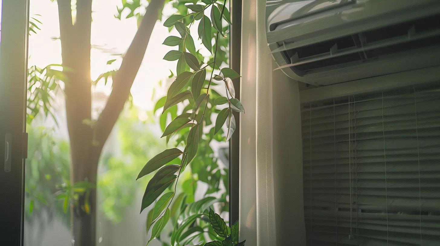
[[[205,15],[205,11],[209,11],[209,8],[211,18]],[[202,0],[200,3],[193,1],[188,5],[181,4],[179,10],[180,13],[187,10],[192,12],[173,14],[164,22],[166,27],[175,28],[180,37],[169,36],[163,43],[172,47],[178,46],[177,50],[169,51],[164,57],[167,61],[177,61],[176,79],[171,83],[166,97],[158,101],[155,110],[163,107],[162,137],[166,137],[168,142],[171,137],[177,135],[176,147],[182,147],[183,151],[180,148],[164,150],[150,159],[137,177],[139,179],[157,170],[147,184],[141,204],[142,212],[158,199],[147,216],[147,232],[151,228],[148,243],[160,237],[165,224],[172,218],[174,227],[171,233],[172,246],[187,245],[195,239],[203,244],[207,241],[205,235],[212,240],[206,242],[205,246],[242,246],[245,241],[238,242],[238,223],[228,227],[220,215],[211,209],[211,205],[216,202],[226,202],[225,197],[216,199],[210,196],[194,202],[191,199],[186,200],[187,196],[183,193],[176,196],[179,178],[188,164],[191,165],[191,172],[201,178],[204,176],[203,181],[209,185],[206,194],[218,191],[218,182],[211,182],[217,180],[214,177],[220,174],[220,170],[216,170],[218,166],[195,166],[194,162],[200,163],[203,159],[194,158],[200,152],[203,154],[198,157],[210,158],[212,153],[205,152],[206,149],[210,149],[209,142],[214,138],[219,139],[219,136],[228,141],[235,130],[235,118],[232,112],[245,112],[242,103],[235,98],[232,83],[232,80],[240,75],[227,67],[220,69],[221,61],[220,64],[217,62],[217,54],[221,51],[218,48],[219,39],[226,38],[228,26],[231,25],[226,1],[223,3],[215,0]],[[213,54],[212,59],[209,57],[205,59],[196,50],[190,31],[196,21],[198,21],[198,38],[209,53]],[[219,74],[215,74],[216,71]],[[209,79],[206,79],[209,72]],[[220,86],[213,80],[224,84],[226,96],[221,96],[213,89],[213,86]],[[186,100],[189,104],[185,103]],[[183,106],[179,116],[176,113],[178,105]],[[220,110],[216,108],[219,105],[226,107]],[[165,127],[168,114],[173,112],[172,121]],[[216,114],[215,126],[208,131],[207,127],[212,124],[211,116],[215,116],[213,113]],[[226,137],[221,137],[224,134],[222,128],[225,123]],[[224,183],[226,186],[227,182]],[[173,189],[170,188],[172,184],[174,184]],[[194,186],[195,184],[192,186],[193,193]],[[169,192],[165,192],[167,189]]]

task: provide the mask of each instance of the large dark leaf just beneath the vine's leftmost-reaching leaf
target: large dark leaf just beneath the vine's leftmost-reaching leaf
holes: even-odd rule
[[[143,194],[140,210],[141,213],[146,207],[150,206],[169,185],[171,185],[177,177],[174,173],[176,173],[179,168],[179,165],[170,164],[163,166],[156,174],[154,174],[148,182],[147,188]]]

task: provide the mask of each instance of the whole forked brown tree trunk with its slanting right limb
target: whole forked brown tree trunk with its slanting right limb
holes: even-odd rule
[[[66,115],[70,137],[70,182],[96,184],[99,157],[110,131],[120,115],[150,40],[154,24],[165,0],[151,0],[121,67],[113,77],[113,90],[94,126],[84,124],[92,118],[90,77],[90,36],[92,0],[77,0],[76,23],[72,23],[71,0],[58,0],[62,65],[65,72]],[[134,178],[135,176],[133,176]],[[85,209],[86,200],[89,209]],[[71,201],[72,202],[72,201]],[[74,246],[96,244],[96,189],[71,203]],[[87,212],[86,212],[87,211]]]

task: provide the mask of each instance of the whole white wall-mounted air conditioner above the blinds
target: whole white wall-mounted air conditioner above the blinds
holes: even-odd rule
[[[271,54],[322,86],[440,65],[439,0],[268,0]]]

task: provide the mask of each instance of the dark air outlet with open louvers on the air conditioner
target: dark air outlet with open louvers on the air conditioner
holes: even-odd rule
[[[440,14],[341,36],[307,46],[279,42],[280,54],[294,73],[305,76],[349,67],[390,55],[440,45]],[[439,47],[440,48],[440,47]]]

